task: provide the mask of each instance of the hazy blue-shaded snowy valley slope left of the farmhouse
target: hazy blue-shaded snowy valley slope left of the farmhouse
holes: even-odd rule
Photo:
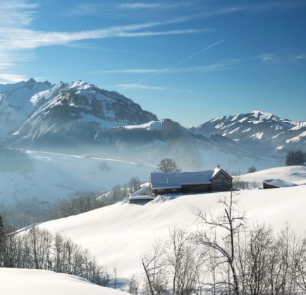
[[[117,184],[124,184],[131,177],[140,181],[149,180],[149,172],[156,170],[149,165],[137,165],[124,161],[80,156],[66,156],[56,153],[25,151],[34,161],[35,172],[21,175],[20,172],[0,172],[0,202],[12,203],[14,197],[22,200],[36,196],[39,201],[54,202],[73,196],[79,189],[111,190]],[[106,162],[111,170],[100,170],[99,164]]]

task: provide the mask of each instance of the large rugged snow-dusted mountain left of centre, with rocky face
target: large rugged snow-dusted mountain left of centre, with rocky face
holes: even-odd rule
[[[158,120],[125,96],[82,81],[60,82],[30,102],[27,120],[8,140],[11,146],[91,144],[99,130]]]

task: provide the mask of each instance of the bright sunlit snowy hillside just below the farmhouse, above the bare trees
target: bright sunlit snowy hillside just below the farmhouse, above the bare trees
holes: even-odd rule
[[[277,170],[276,170],[277,171]],[[274,177],[281,178],[280,174]],[[288,175],[287,172],[286,175]],[[304,174],[303,174],[304,173]],[[296,175],[301,179],[305,175]],[[90,249],[104,265],[116,264],[123,278],[142,270],[141,258],[150,251],[156,238],[167,239],[169,228],[186,225],[190,230],[197,225],[197,210],[216,213],[223,206],[216,197],[225,192],[159,196],[145,205],[118,203],[94,211],[60,220],[45,222],[52,233],[59,232]],[[278,231],[290,222],[293,230],[304,234],[306,185],[283,189],[254,189],[241,192],[239,208],[247,210],[250,222],[267,222]]]

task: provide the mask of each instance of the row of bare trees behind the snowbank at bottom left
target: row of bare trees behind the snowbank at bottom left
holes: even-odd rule
[[[35,268],[83,277],[107,286],[109,272],[87,249],[71,239],[32,227],[23,234],[7,234],[0,252],[1,268]]]

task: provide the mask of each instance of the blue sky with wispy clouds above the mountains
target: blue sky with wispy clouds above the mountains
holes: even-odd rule
[[[305,13],[295,0],[0,0],[0,83],[85,80],[185,127],[255,110],[306,120]]]

